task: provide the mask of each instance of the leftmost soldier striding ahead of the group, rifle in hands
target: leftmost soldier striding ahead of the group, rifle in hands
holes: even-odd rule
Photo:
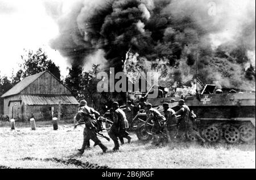
[[[82,100],[80,102],[80,110],[76,115],[76,120],[83,119],[85,122],[84,128],[84,142],[82,143],[82,148],[78,149],[80,153],[84,153],[84,150],[88,148],[90,139],[94,141],[94,146],[98,145],[105,153],[108,148],[101,143],[97,137],[97,118],[100,116],[100,113],[94,110],[93,108],[87,106],[87,102]]]

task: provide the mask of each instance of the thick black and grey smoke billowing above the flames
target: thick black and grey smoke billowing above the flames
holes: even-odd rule
[[[46,7],[60,29],[51,47],[72,65],[84,66],[97,55],[95,62],[121,71],[130,51],[145,61],[163,60],[181,82],[195,77],[197,54],[205,83],[255,88],[252,0],[79,1],[67,14],[49,2]]]

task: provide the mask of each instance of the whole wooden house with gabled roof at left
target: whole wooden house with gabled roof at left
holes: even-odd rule
[[[17,120],[51,120],[60,107],[61,118],[72,118],[77,112],[71,90],[48,70],[24,78],[2,95],[3,114]],[[60,104],[60,106],[59,106]]]

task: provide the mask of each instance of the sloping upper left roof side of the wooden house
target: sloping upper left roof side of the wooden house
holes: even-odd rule
[[[7,97],[10,95],[19,94],[23,89],[25,89],[28,85],[30,85],[32,82],[34,82],[37,78],[42,76],[42,74],[44,74],[45,72],[47,72],[47,70],[45,70],[44,72],[34,74],[32,76],[28,76],[28,77],[24,78],[22,81],[18,82],[14,87],[12,87],[9,91],[7,91],[5,94],[3,94],[1,96],[1,98]]]

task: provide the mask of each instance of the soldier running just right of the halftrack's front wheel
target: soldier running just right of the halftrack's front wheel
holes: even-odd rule
[[[170,143],[171,139],[166,127],[166,118],[160,114],[158,110],[152,108],[151,104],[146,104],[146,114],[146,123],[154,123],[151,129],[154,138],[152,144],[155,143],[155,145],[158,146],[160,143],[163,143],[164,140],[167,140],[167,143]]]

